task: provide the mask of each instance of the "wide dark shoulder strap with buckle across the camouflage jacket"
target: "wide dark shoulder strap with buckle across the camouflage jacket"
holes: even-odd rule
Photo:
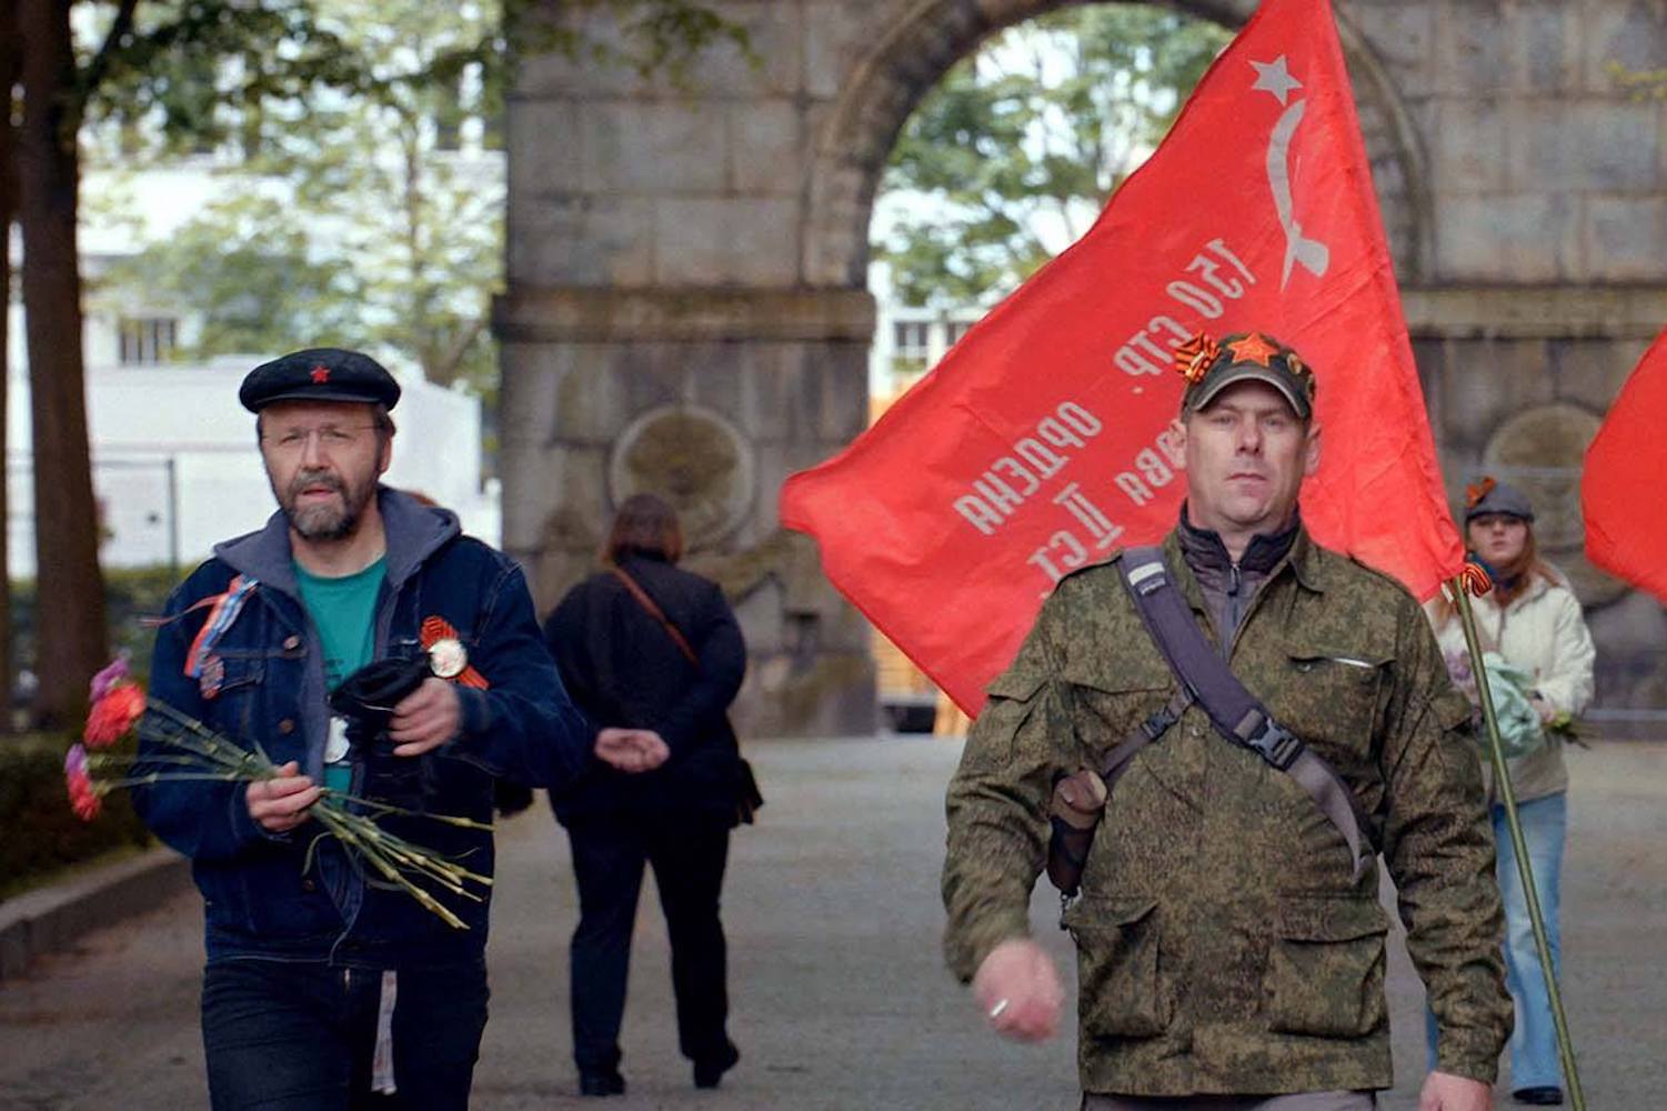
[[[1274,721],[1267,707],[1239,682],[1239,676],[1204,637],[1192,609],[1175,589],[1169,567],[1164,566],[1162,549],[1132,547],[1124,552],[1119,569],[1135,612],[1180,686],[1204,707],[1219,734],[1254,751],[1309,792],[1349,842],[1359,879],[1375,847],[1370,837],[1372,821],[1349,784],[1300,737]]]

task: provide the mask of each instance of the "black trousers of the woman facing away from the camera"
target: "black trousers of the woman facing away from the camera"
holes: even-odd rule
[[[728,824],[718,816],[583,817],[568,822],[567,836],[578,881],[570,974],[580,1071],[618,1068],[643,864],[653,866],[672,943],[678,1049],[697,1063],[722,1061],[728,1053],[728,991],[718,894]]]

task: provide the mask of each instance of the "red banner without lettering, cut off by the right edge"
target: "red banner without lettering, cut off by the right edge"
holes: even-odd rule
[[[1667,602],[1667,514],[1644,492],[1667,470],[1662,414],[1667,414],[1667,332],[1644,352],[1585,449],[1580,512],[1587,559]]]

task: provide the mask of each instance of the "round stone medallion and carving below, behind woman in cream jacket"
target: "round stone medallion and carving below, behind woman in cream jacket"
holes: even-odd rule
[[[1579,405],[1535,405],[1500,425],[1482,452],[1489,474],[1529,495],[1540,556],[1574,581],[1575,594],[1587,606],[1604,606],[1627,592],[1624,582],[1585,561],[1580,462],[1599,424],[1595,414]]]

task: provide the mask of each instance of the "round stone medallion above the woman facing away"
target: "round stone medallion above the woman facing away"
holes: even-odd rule
[[[608,494],[618,505],[632,494],[672,502],[688,549],[712,547],[752,509],[752,447],[708,409],[667,405],[632,420],[613,444]]]

